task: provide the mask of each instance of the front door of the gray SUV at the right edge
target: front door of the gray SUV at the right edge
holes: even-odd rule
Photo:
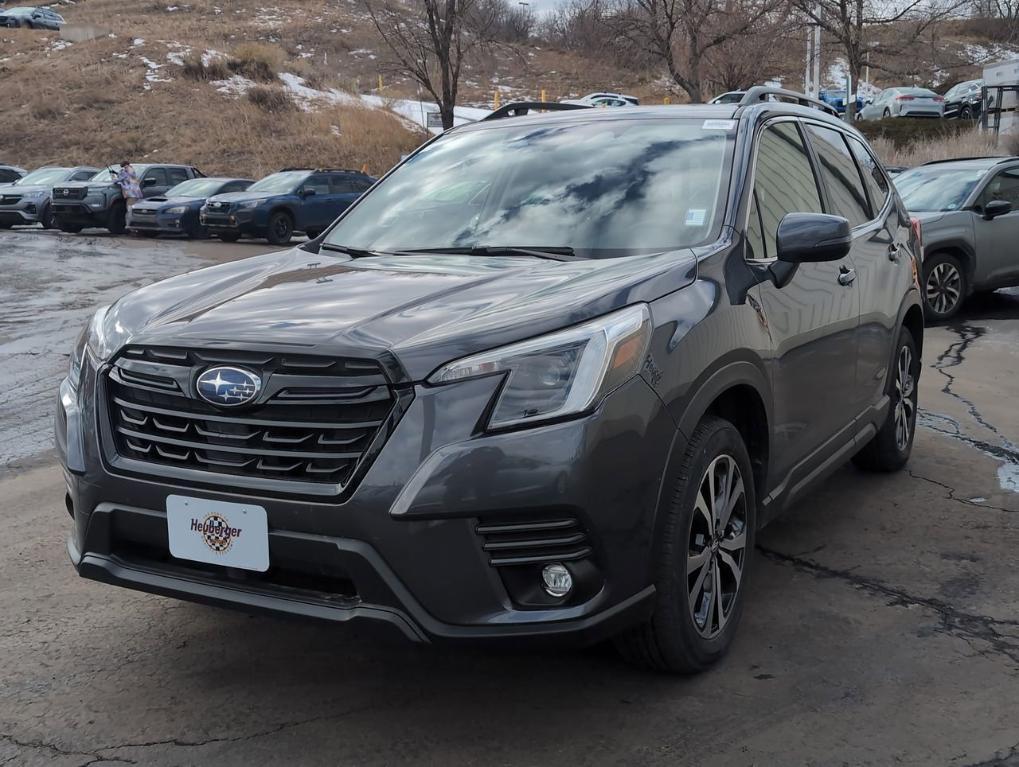
[[[1012,212],[987,221],[983,206],[991,200],[1012,203]],[[1019,166],[1007,166],[995,173],[976,205],[972,214],[976,235],[974,282],[988,287],[1019,282]]]

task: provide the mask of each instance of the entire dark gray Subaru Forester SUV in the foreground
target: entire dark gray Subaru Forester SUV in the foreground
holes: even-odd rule
[[[916,423],[915,233],[775,93],[509,105],[316,240],[99,310],[56,409],[77,572],[705,668],[757,530]]]

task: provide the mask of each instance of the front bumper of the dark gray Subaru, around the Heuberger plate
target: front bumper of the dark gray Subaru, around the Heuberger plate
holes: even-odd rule
[[[335,502],[239,491],[219,476],[120,475],[103,457],[96,426],[104,408],[88,390],[94,384],[85,386],[78,397],[65,383],[56,423],[74,519],[68,552],[84,578],[245,610],[368,621],[421,642],[583,644],[650,614],[653,531],[677,430],[639,378],[593,415],[502,434],[475,428],[497,381],[418,386],[360,484]],[[171,557],[165,508],[174,493],[264,506],[269,570]],[[549,518],[576,521],[588,549],[567,562],[577,586],[560,600],[540,589],[539,562],[492,564],[479,530]]]

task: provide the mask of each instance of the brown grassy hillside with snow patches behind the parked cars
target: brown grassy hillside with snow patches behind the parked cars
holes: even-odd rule
[[[253,176],[309,164],[379,173],[427,135],[419,124],[427,96],[386,69],[361,0],[68,0],[60,9],[69,40],[0,31],[0,161],[130,158]],[[895,30],[883,34],[894,38]],[[801,37],[776,47],[770,72],[796,89]],[[944,88],[1010,54],[978,24],[952,22],[909,56],[877,52],[872,79]],[[843,83],[839,59],[829,46],[829,86]],[[567,52],[532,39],[471,60],[461,103],[476,118],[496,92],[507,101],[542,90],[552,100],[596,90],[684,100],[653,67],[634,70],[602,50]]]

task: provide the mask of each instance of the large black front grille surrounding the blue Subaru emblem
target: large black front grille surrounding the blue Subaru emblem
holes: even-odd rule
[[[219,365],[261,376],[255,402],[229,408],[198,398],[195,379]],[[371,360],[171,347],[125,349],[107,373],[106,391],[120,456],[338,489],[395,417],[397,402]]]

